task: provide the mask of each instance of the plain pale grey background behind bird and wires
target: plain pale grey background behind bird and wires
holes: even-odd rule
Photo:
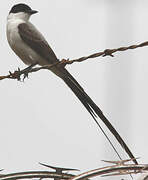
[[[19,2],[39,11],[31,21],[60,59],[148,39],[147,0],[5,0],[0,6],[1,75],[25,67],[5,33],[8,11]],[[148,162],[147,51],[139,48],[67,66],[141,157],[140,163]],[[102,159],[118,160],[85,108],[51,72],[32,74],[25,83],[1,81],[0,100],[0,167],[6,172],[45,170],[38,162],[86,171],[104,166]]]

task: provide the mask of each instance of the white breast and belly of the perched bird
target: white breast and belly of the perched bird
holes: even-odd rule
[[[7,39],[10,47],[17,54],[17,56],[19,56],[20,59],[27,65],[31,65],[41,60],[41,57],[29,46],[27,46],[21,39],[17,28],[19,22],[10,23],[7,24]]]

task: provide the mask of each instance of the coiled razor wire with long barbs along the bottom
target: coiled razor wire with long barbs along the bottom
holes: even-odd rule
[[[77,175],[63,173],[63,170],[75,170],[67,168],[57,168],[50,165],[44,165],[46,167],[55,169],[53,171],[27,171],[27,172],[17,172],[10,174],[0,174],[0,180],[17,180],[17,179],[49,179],[54,180],[88,180],[88,178],[97,176],[121,176],[121,175],[131,175],[131,174],[141,174],[148,172],[148,164],[132,164],[133,159],[126,159],[122,161],[104,161],[106,163],[111,163],[111,166],[105,166],[93,170],[89,170]],[[128,163],[129,162],[129,163]]]

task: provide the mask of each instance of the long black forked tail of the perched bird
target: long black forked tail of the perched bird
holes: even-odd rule
[[[134,155],[132,154],[132,152],[130,151],[130,149],[128,148],[128,146],[124,142],[124,140],[121,138],[121,136],[116,131],[116,129],[113,127],[113,125],[109,122],[109,120],[104,116],[101,109],[86,94],[86,92],[78,84],[78,82],[73,78],[73,76],[67,70],[65,70],[65,71],[66,71],[65,72],[66,76],[62,77],[62,79],[68,85],[68,87],[74,92],[74,94],[78,97],[78,99],[81,101],[81,103],[85,106],[85,108],[91,114],[91,116],[93,117],[93,119],[95,120],[97,125],[101,128],[101,126],[99,125],[99,123],[96,119],[97,117],[99,117],[103,121],[103,123],[107,126],[107,128],[110,130],[110,132],[115,136],[115,138],[120,143],[120,145],[125,150],[125,152],[128,154],[128,156],[133,160],[133,162],[135,164],[138,164],[137,160],[135,159]],[[102,128],[101,128],[101,130],[102,130]],[[103,133],[104,133],[104,131],[103,131]],[[111,145],[112,145],[112,143],[111,143]],[[114,148],[114,150],[115,150],[115,148]],[[117,151],[116,151],[116,153],[117,153]],[[119,154],[118,154],[118,156],[119,156]]]

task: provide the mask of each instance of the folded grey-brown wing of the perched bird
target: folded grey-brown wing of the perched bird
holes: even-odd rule
[[[22,23],[18,26],[18,32],[22,40],[41,57],[47,60],[47,64],[55,63],[57,57],[43,35],[31,23]]]

